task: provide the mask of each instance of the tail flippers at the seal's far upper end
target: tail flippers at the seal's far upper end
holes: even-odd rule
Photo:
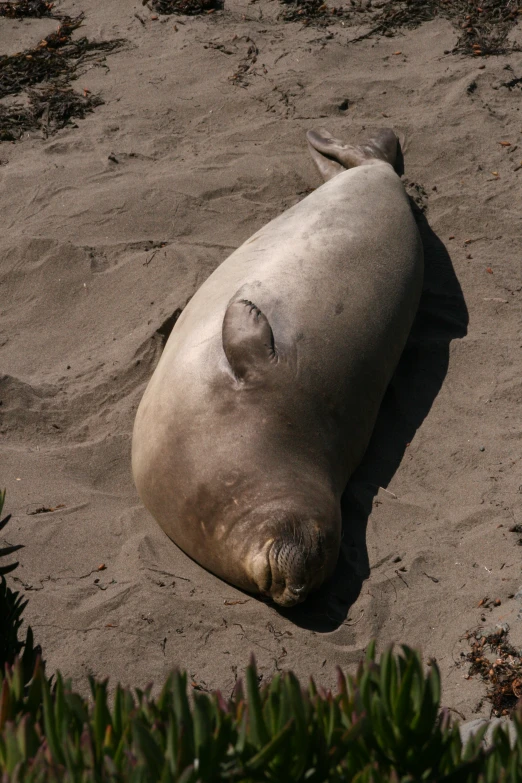
[[[364,144],[345,144],[328,131],[308,131],[308,148],[325,181],[341,171],[377,161],[389,163],[395,171],[399,162],[399,140],[390,128],[383,128]]]

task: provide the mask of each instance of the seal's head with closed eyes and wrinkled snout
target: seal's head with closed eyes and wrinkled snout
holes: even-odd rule
[[[333,572],[339,553],[340,520],[285,515],[270,525],[270,535],[251,552],[250,574],[259,592],[280,606],[294,606]]]

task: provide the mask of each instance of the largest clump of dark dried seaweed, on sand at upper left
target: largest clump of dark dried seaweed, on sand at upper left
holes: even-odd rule
[[[0,56],[0,98],[20,94],[27,98],[22,104],[0,104],[0,141],[16,141],[29,130],[48,135],[103,103],[88,91],[75,92],[69,82],[87,60],[114,51],[123,41],[73,40],[82,21],[83,14],[64,17],[58,30],[35,48]],[[34,89],[36,85],[42,86]]]

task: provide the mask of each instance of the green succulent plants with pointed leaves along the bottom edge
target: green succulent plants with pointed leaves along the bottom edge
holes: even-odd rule
[[[355,675],[339,670],[336,693],[291,672],[260,684],[252,660],[228,700],[189,693],[180,671],[157,698],[117,685],[109,699],[107,681],[90,678],[86,699],[59,672],[51,685],[30,629],[18,641],[26,602],[0,578],[2,783],[522,781],[522,712],[514,744],[499,728],[485,749],[484,728],[463,747],[436,663],[425,671],[409,647],[377,659],[370,644]]]

